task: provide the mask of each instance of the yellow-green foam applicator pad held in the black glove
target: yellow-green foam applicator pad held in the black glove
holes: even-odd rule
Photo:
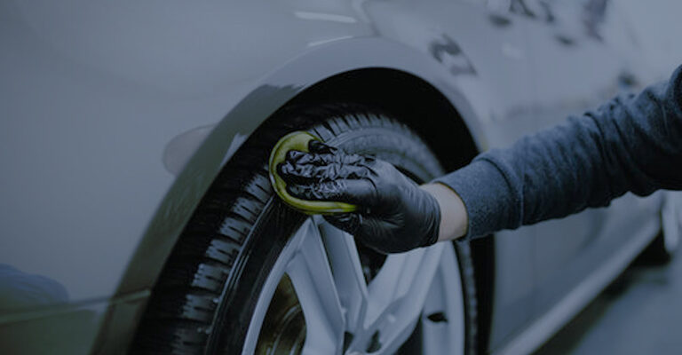
[[[273,151],[270,153],[268,171],[270,182],[273,184],[274,192],[280,196],[282,201],[293,209],[297,209],[308,215],[330,215],[336,213],[353,212],[357,207],[350,203],[337,201],[307,201],[291,196],[287,192],[287,183],[277,174],[277,165],[284,162],[289,150],[297,150],[308,153],[308,143],[312,140],[321,141],[320,138],[304,131],[289,133],[282,137]]]

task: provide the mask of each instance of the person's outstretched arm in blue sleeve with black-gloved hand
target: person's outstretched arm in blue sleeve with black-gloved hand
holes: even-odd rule
[[[325,216],[382,252],[473,238],[607,206],[631,191],[682,188],[682,67],[669,83],[480,154],[417,186],[393,165],[312,141],[278,165],[292,196],[344,201],[354,212]]]

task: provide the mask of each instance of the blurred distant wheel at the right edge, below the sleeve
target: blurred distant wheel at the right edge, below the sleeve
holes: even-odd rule
[[[661,232],[642,252],[647,264],[669,264],[682,238],[682,194],[666,192],[661,207]]]

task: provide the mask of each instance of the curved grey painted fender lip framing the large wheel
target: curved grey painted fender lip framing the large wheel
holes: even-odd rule
[[[357,54],[349,57],[345,55],[348,52]],[[398,70],[431,83],[456,103],[475,141],[485,141],[470,101],[456,86],[444,80],[449,75],[448,71],[423,53],[378,37],[345,39],[309,51],[259,83],[215,127],[200,128],[203,133],[193,130],[190,136],[194,137],[186,137],[184,144],[176,141],[186,150],[178,148],[174,153],[178,157],[175,166],[181,165],[183,155],[191,154],[191,157],[179,171],[155,213],[117,293],[126,294],[153,284],[165,257],[170,254],[179,233],[218,172],[267,117],[314,83],[333,75],[372,67]],[[198,141],[201,143],[193,151]]]

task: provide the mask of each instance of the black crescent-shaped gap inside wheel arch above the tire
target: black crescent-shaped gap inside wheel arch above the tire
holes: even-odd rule
[[[461,114],[432,84],[391,68],[363,68],[316,83],[289,104],[345,101],[378,107],[416,130],[447,171],[470,162],[478,148]]]

